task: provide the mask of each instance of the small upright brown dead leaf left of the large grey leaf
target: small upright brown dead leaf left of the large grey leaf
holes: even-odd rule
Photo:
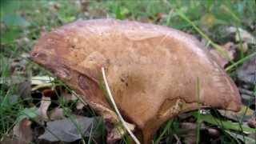
[[[32,130],[30,120],[22,119],[14,126],[14,135],[18,137],[18,144],[28,144],[32,141]]]

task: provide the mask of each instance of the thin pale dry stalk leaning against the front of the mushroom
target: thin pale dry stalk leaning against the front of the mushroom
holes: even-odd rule
[[[102,75],[103,75],[103,80],[104,80],[104,84],[106,86],[106,91],[107,93],[109,94],[110,96],[110,101],[112,102],[113,106],[114,106],[114,110],[116,111],[116,113],[118,114],[118,117],[120,119],[120,121],[122,122],[122,126],[124,126],[127,130],[127,132],[130,134],[130,137],[134,139],[134,142],[136,144],[140,144],[140,142],[138,141],[138,138],[135,137],[135,135],[133,134],[133,132],[130,130],[130,128],[126,125],[126,122],[125,120],[122,118],[122,115],[120,114],[119,110],[118,110],[118,106],[115,104],[114,102],[114,98],[111,94],[111,91],[110,91],[110,87],[109,87],[109,84],[107,83],[106,81],[106,74],[105,74],[105,70],[104,70],[104,67],[102,67]]]

